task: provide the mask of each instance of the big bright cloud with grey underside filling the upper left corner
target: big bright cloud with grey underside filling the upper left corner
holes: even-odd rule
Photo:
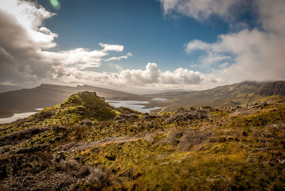
[[[47,51],[56,46],[54,38],[58,35],[43,26],[43,21],[54,15],[32,1],[1,1],[0,83],[38,83],[73,75],[79,78],[78,70],[100,67],[108,51],[123,51],[123,46],[107,43],[99,43],[101,50]]]

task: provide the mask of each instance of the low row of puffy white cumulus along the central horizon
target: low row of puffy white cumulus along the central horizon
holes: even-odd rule
[[[202,81],[208,81],[204,74],[190,71],[185,68],[177,68],[175,71],[162,72],[156,63],[147,63],[145,70],[121,70],[119,73],[88,73],[78,78],[81,82],[92,84],[92,81],[99,81],[108,86],[134,86],[134,87],[159,87],[167,88],[169,86],[189,86],[197,85]],[[91,81],[90,81],[91,80]]]

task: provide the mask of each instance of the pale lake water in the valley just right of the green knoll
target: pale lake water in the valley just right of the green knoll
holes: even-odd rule
[[[138,110],[140,113],[150,113],[150,110],[160,109],[160,107],[155,108],[144,108],[145,104],[149,103],[148,101],[140,101],[140,100],[107,100],[107,102],[115,108],[125,107],[133,110]]]

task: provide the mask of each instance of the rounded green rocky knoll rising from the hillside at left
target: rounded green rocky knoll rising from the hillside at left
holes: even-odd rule
[[[96,93],[79,92],[52,108],[45,108],[33,115],[32,120],[45,120],[46,123],[78,123],[83,119],[108,120],[118,114],[112,106]],[[47,117],[47,118],[46,118]]]

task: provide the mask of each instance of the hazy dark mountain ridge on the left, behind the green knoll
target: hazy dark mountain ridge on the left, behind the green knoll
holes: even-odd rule
[[[58,86],[42,84],[36,88],[21,89],[0,93],[0,117],[9,117],[14,113],[24,113],[35,108],[49,108],[63,102],[68,96],[79,91],[96,92],[98,96],[111,100],[145,100],[144,96],[123,91],[93,86]]]

